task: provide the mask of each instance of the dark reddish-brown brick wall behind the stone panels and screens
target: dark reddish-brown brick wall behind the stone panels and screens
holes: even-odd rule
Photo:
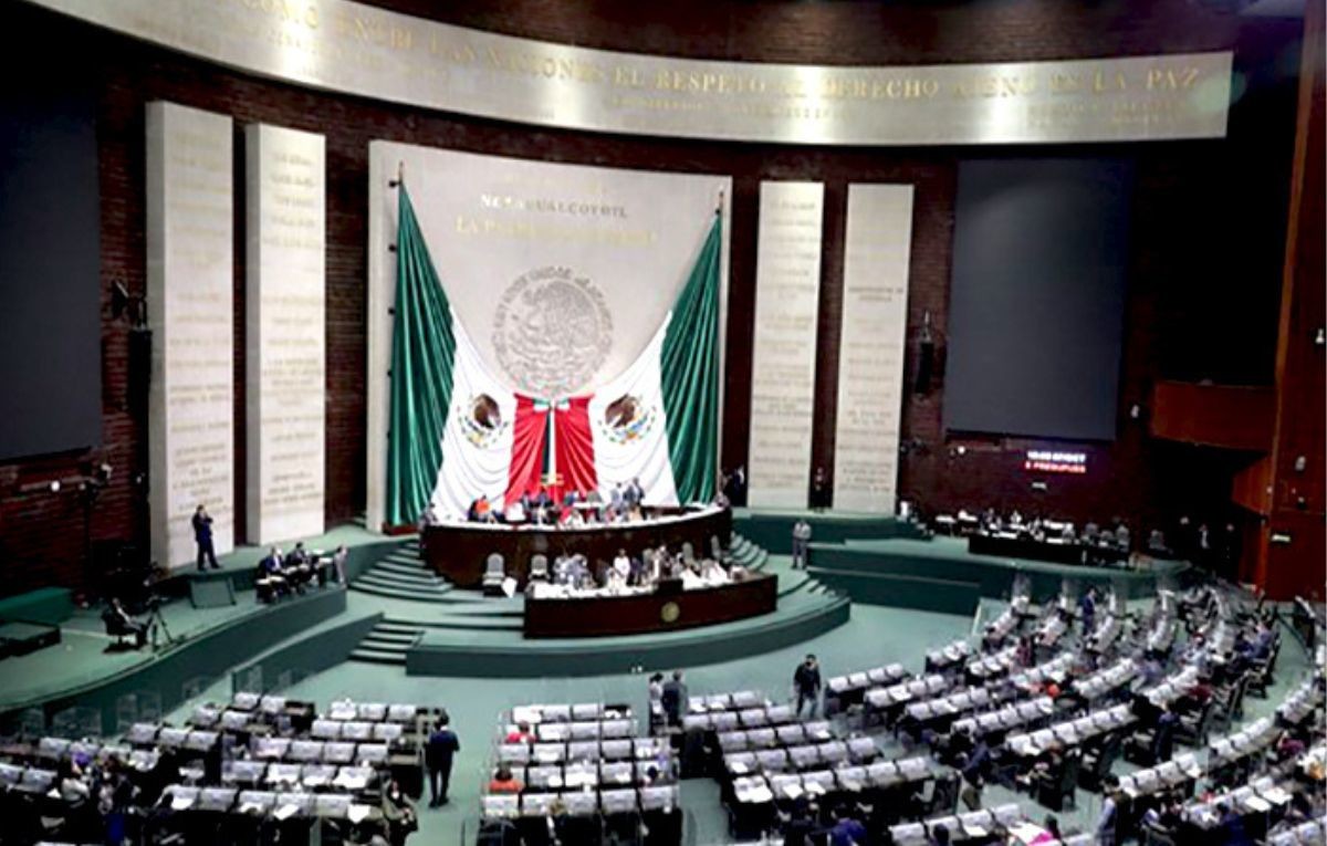
[[[1136,239],[1121,378],[1120,436],[1091,450],[1085,479],[1055,480],[1046,497],[1074,516],[1153,520],[1190,504],[1223,503],[1226,459],[1143,436],[1123,418],[1160,375],[1270,381],[1285,195],[1294,129],[1294,81],[1270,68],[1298,38],[1296,23],[1269,23],[1188,0],[1070,4],[1059,0],[957,4],[747,3],[657,4],[652,23],[638,4],[462,0],[378,0],[418,15],[588,46],[736,60],[824,64],[921,64],[1120,56],[1235,49],[1250,85],[1231,113],[1226,141],[1128,146],[963,149],[798,149],[625,138],[535,129],[317,93],[214,68],[9,4],[0,24],[66,45],[100,85],[102,195],[104,428],[90,455],[0,465],[0,593],[78,583],[81,507],[70,495],[24,493],[33,480],[77,473],[84,460],[115,467],[98,503],[94,538],[146,538],[145,499],[131,481],[146,469],[146,420],[127,407],[127,326],[109,317],[113,281],[145,288],[143,105],[171,99],[234,117],[321,133],[328,162],[328,430],[326,516],[345,521],[364,507],[365,268],[368,145],[391,139],[520,158],[600,166],[701,171],[734,176],[729,302],[725,465],[746,460],[755,280],[755,215],[762,179],[825,182],[825,253],[820,304],[817,419],[813,461],[833,467],[843,233],[849,182],[916,186],[909,330],[929,312],[942,347],[958,163],[971,155],[1129,155],[1139,163]],[[1263,74],[1259,77],[1258,74]],[[1267,78],[1263,78],[1267,77]],[[238,156],[242,139],[236,137]],[[238,159],[238,164],[242,163]],[[243,178],[236,180],[236,491],[244,489]],[[942,431],[942,390],[909,396],[904,438],[920,448],[901,463],[900,489],[928,505],[998,501],[1024,509],[1042,495],[1016,469],[1022,442],[963,442],[950,457]],[[243,532],[243,507],[238,509]],[[243,534],[240,534],[242,537]]]

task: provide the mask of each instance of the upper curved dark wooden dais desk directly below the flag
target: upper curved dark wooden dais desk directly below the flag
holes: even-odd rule
[[[648,520],[576,528],[504,525],[488,522],[442,522],[425,526],[419,554],[427,565],[458,587],[483,585],[488,556],[503,557],[507,574],[524,586],[529,560],[547,556],[552,566],[561,554],[583,554],[597,568],[610,562],[617,550],[640,556],[646,549],[667,546],[681,552],[690,544],[697,556],[707,556],[713,538],[727,546],[733,512],[727,508],[652,509]]]

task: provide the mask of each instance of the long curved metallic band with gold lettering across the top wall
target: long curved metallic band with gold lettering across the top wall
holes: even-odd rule
[[[29,3],[283,82],[604,133],[905,146],[1223,138],[1230,105],[1229,50],[982,65],[791,65],[577,48],[352,0]]]

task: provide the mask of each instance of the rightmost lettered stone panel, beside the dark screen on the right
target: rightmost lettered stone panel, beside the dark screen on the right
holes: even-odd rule
[[[912,213],[912,186],[848,186],[833,472],[841,511],[894,509]]]

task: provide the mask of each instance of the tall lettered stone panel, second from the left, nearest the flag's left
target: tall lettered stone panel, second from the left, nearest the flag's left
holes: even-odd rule
[[[255,123],[245,159],[245,528],[271,544],[322,533],[324,138]]]

